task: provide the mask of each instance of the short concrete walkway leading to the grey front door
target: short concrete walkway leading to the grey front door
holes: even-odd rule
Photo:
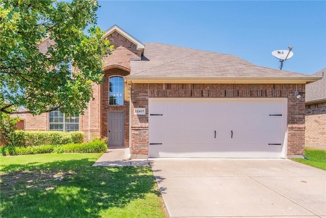
[[[129,159],[129,148],[112,148],[93,164],[93,167],[149,167],[147,159]]]

